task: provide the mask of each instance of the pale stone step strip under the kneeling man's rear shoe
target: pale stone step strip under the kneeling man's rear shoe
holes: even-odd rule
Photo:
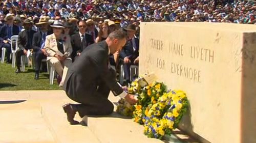
[[[67,121],[66,113],[62,110],[62,105],[68,100],[41,102],[41,113],[49,126],[56,142],[70,143],[99,143],[92,131],[82,125],[70,125]],[[81,121],[76,115],[75,120]]]

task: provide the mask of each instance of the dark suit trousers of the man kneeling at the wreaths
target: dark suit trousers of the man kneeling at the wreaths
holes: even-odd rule
[[[90,89],[91,90],[91,89]],[[110,89],[103,81],[98,82],[97,88],[91,95],[81,93],[80,95],[69,96],[72,100],[81,103],[77,104],[79,116],[105,116],[110,115],[114,105],[108,100]]]

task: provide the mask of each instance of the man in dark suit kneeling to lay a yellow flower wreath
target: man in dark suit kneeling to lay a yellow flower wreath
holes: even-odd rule
[[[71,124],[75,113],[85,115],[109,115],[113,112],[113,104],[108,100],[110,91],[115,96],[134,104],[136,99],[127,94],[116,81],[116,73],[109,66],[109,54],[120,50],[126,42],[124,31],[115,31],[102,42],[88,46],[69,68],[63,89],[67,96],[81,104],[63,105]]]

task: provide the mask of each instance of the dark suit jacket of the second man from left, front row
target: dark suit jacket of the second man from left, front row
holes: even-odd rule
[[[28,33],[27,30],[22,31],[18,34],[18,47],[19,49],[31,49],[32,48],[32,40],[33,40],[33,35],[36,33],[33,30],[30,30],[30,40],[31,40],[31,47],[28,47]]]

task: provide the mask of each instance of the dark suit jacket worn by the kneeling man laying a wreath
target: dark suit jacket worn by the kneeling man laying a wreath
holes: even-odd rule
[[[121,94],[123,90],[116,81],[116,72],[108,63],[109,48],[105,41],[88,46],[69,68],[63,86],[67,95],[71,99],[93,96],[97,90],[97,81],[108,85],[115,96]]]

